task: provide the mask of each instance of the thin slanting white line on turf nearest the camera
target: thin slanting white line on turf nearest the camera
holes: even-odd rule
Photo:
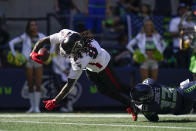
[[[87,123],[65,123],[65,122],[44,122],[44,121],[13,121],[0,120],[5,123],[31,123],[31,124],[56,124],[56,125],[76,125],[76,126],[108,126],[108,127],[134,127],[134,128],[162,128],[162,129],[181,129],[196,130],[195,127],[176,127],[176,126],[145,126],[145,125],[119,125],[119,124],[87,124]]]

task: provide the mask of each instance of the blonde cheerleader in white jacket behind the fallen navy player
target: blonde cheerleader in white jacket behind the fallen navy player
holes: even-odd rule
[[[152,20],[144,21],[142,31],[128,43],[127,49],[129,52],[136,53],[134,45],[136,45],[139,51],[145,56],[140,65],[142,80],[148,78],[149,75],[151,75],[150,77],[152,79],[157,80],[158,59],[156,59],[155,53],[157,51],[163,53],[166,44],[160,34],[155,30]]]

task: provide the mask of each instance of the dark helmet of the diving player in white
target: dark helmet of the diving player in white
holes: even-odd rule
[[[78,33],[71,34],[60,43],[60,48],[63,49],[66,55],[77,53],[83,46],[84,42]]]

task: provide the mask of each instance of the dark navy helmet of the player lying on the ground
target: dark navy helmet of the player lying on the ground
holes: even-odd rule
[[[138,84],[131,90],[131,98],[135,103],[149,103],[154,97],[153,89],[148,84]]]

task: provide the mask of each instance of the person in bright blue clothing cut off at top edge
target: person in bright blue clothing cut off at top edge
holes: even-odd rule
[[[88,0],[88,6],[85,14],[88,16],[86,21],[86,29],[94,33],[102,31],[102,21],[105,17],[107,7],[110,5],[110,0]]]

